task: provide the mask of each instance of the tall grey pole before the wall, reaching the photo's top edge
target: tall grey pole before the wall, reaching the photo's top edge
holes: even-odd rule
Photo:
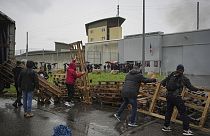
[[[145,73],[145,0],[143,0],[142,74]]]

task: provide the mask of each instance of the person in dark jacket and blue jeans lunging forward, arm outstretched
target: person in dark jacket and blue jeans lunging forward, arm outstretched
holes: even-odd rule
[[[141,69],[138,66],[134,66],[133,69],[128,72],[125,77],[125,83],[121,91],[123,98],[123,103],[121,104],[117,113],[114,114],[114,117],[120,121],[120,116],[128,104],[132,105],[131,117],[128,123],[130,127],[138,126],[136,124],[136,114],[137,114],[137,95],[139,94],[139,88],[141,82],[143,83],[152,83],[156,82],[156,79],[146,78],[141,74]]]

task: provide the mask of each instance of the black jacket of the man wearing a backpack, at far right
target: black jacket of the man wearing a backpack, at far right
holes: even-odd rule
[[[182,90],[183,90],[183,87],[187,87],[190,91],[198,91],[199,89],[194,87],[191,83],[190,83],[190,80],[184,76],[183,74],[177,74],[176,71],[172,72],[170,75],[168,75],[164,80],[161,81],[161,84],[163,86],[167,86],[167,83],[168,81],[170,80],[170,78],[172,76],[177,76],[178,80],[178,84],[179,84],[179,89],[177,89],[175,92],[171,92],[168,90],[168,94],[174,94],[174,95],[180,95]]]

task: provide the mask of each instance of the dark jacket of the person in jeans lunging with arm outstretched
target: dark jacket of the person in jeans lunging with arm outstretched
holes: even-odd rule
[[[137,98],[141,82],[156,82],[156,79],[145,78],[140,71],[131,70],[125,77],[125,83],[122,89],[122,97]]]

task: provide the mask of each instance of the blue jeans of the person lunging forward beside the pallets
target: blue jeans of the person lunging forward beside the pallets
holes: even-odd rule
[[[120,117],[125,108],[127,108],[128,104],[132,105],[130,123],[135,123],[136,114],[137,114],[137,98],[123,98],[124,102],[121,104],[119,110],[117,111],[117,115]]]

